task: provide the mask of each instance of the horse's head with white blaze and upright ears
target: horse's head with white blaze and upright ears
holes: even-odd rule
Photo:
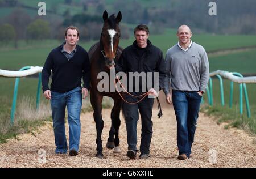
[[[103,13],[104,25],[101,32],[101,44],[103,47],[102,55],[105,58],[105,64],[110,67],[115,65],[115,57],[117,56],[117,49],[120,38],[119,22],[122,19],[122,14],[119,11],[117,17],[114,14],[110,17],[108,12],[105,10]]]

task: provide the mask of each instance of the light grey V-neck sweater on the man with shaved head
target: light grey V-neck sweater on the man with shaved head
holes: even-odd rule
[[[209,62],[203,46],[192,42],[185,52],[176,44],[166,53],[166,76],[163,91],[205,91],[209,80]]]

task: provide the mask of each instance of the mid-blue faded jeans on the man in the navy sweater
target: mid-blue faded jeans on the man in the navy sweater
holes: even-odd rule
[[[65,135],[65,108],[68,109],[69,150],[79,150],[82,107],[81,88],[77,87],[65,93],[51,91],[51,108],[56,153],[67,153],[68,145]]]

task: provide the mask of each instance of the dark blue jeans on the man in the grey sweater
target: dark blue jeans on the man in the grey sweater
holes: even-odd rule
[[[202,96],[197,92],[172,90],[172,102],[177,120],[179,155],[191,154]]]

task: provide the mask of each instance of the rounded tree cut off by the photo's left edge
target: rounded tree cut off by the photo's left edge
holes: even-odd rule
[[[8,44],[11,40],[15,39],[16,33],[13,25],[6,23],[1,25],[0,29],[0,40],[3,41],[4,44]]]

